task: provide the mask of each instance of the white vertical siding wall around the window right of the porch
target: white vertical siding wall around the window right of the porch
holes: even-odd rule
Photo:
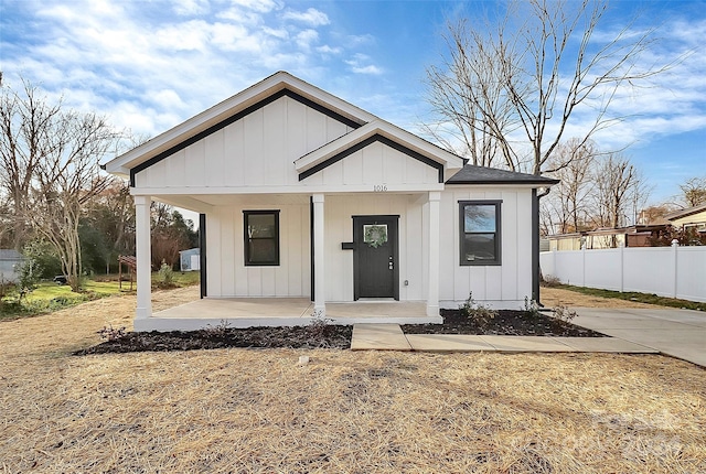
[[[459,201],[501,200],[500,266],[460,265]],[[520,309],[532,298],[532,190],[452,187],[441,193],[439,300],[458,308],[469,293],[496,309]]]

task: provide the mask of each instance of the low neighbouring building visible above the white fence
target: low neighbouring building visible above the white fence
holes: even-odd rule
[[[651,238],[657,238],[664,230],[665,224],[637,225],[617,229],[605,228],[573,234],[557,234],[547,236],[549,250],[580,250],[618,248],[618,247],[650,247]]]

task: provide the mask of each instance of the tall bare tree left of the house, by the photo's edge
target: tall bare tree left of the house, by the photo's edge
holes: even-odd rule
[[[22,94],[2,89],[3,184],[12,196],[17,228],[29,224],[54,247],[78,291],[78,220],[86,202],[107,184],[98,161],[120,134],[103,117],[64,110],[61,101],[49,104],[35,86],[25,80],[23,86]]]

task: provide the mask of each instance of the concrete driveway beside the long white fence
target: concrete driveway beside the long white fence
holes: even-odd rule
[[[576,308],[571,321],[706,367],[706,313],[675,309]]]

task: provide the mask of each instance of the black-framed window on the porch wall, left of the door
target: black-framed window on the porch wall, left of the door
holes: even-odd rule
[[[279,211],[243,211],[245,265],[279,265]]]

